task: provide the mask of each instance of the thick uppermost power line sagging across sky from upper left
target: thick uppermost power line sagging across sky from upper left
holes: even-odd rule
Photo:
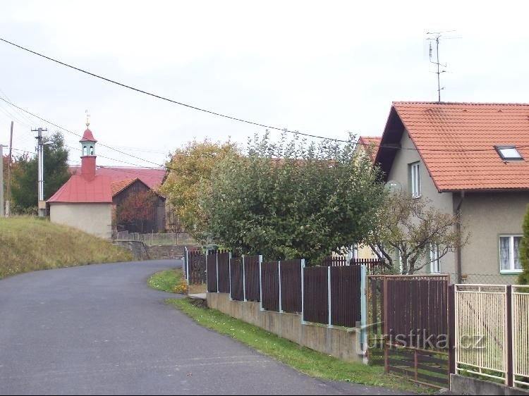
[[[270,126],[270,125],[265,125],[265,124],[261,124],[261,123],[256,123],[254,121],[250,121],[250,120],[244,120],[243,118],[237,118],[237,117],[234,117],[234,116],[228,116],[226,114],[222,114],[222,113],[217,113],[217,111],[212,111],[212,110],[207,110],[207,109],[201,109],[200,107],[197,107],[197,106],[192,106],[190,104],[186,104],[186,103],[182,103],[181,101],[176,101],[174,99],[169,99],[169,98],[166,98],[166,97],[162,97],[162,95],[159,95],[159,94],[153,94],[152,92],[147,92],[143,89],[140,89],[140,88],[136,88],[136,87],[132,87],[131,85],[126,85],[126,84],[123,84],[123,82],[118,82],[118,81],[115,81],[115,80],[111,80],[110,78],[106,78],[106,77],[103,77],[102,75],[97,75],[95,73],[92,73],[90,71],[87,71],[87,70],[84,70],[82,68],[77,68],[75,66],[72,66],[72,65],[69,65],[68,63],[64,63],[64,62],[61,62],[61,61],[58,61],[57,59],[54,59],[54,58],[50,58],[49,56],[46,56],[44,54],[40,54],[39,52],[36,52],[36,51],[32,51],[31,49],[28,49],[28,48],[25,48],[25,47],[22,47],[18,44],[15,44],[13,42],[9,42],[8,40],[6,39],[3,39],[0,37],[0,41],[2,42],[5,42],[7,44],[10,44],[12,45],[13,47],[17,47],[19,49],[23,49],[24,51],[28,51],[30,52],[31,54],[34,54],[34,55],[37,55],[37,56],[40,56],[44,59],[47,59],[48,61],[52,61],[52,62],[55,62],[55,63],[59,63],[59,65],[62,65],[62,66],[66,66],[67,68],[71,68],[73,70],[77,70],[81,73],[85,73],[87,75],[91,75],[92,77],[95,77],[95,78],[99,78],[101,80],[104,80],[104,81],[107,81],[107,82],[111,82],[112,84],[116,84],[116,85],[119,85],[120,87],[124,87],[124,88],[128,88],[128,89],[132,89],[133,91],[135,92],[140,92],[141,94],[146,94],[146,95],[149,95],[150,97],[155,97],[157,99],[162,99],[164,101],[169,101],[173,104],[178,104],[179,106],[185,106],[185,107],[188,107],[189,109],[193,109],[193,110],[197,110],[197,111],[202,111],[204,113],[209,113],[209,114],[212,114],[214,116],[219,116],[219,117],[223,117],[223,118],[229,118],[230,120],[234,120],[234,121],[238,121],[238,122],[241,122],[241,123],[247,123],[247,124],[250,124],[250,125],[256,125],[256,126],[259,126],[259,127],[262,127],[262,128],[267,128],[267,129],[273,129],[273,130],[281,130],[281,131],[284,131],[284,132],[289,132],[289,133],[295,133],[296,135],[303,135],[303,136],[307,136],[307,137],[314,137],[315,139],[324,139],[324,140],[334,140],[336,142],[344,142],[344,143],[348,143],[350,142],[349,140],[341,140],[341,139],[333,139],[332,137],[323,137],[323,136],[318,136],[318,135],[311,135],[309,133],[303,133],[303,132],[298,132],[298,131],[293,131],[293,130],[288,130],[286,128],[278,128],[278,127],[274,127],[274,126]]]

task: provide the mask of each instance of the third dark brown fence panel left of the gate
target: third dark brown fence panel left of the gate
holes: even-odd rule
[[[301,260],[281,261],[281,309],[301,312]]]

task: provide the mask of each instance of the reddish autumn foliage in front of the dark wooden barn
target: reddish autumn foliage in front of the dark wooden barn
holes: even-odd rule
[[[144,232],[143,225],[149,220],[156,203],[157,195],[152,190],[130,191],[116,208],[116,223],[134,223]]]

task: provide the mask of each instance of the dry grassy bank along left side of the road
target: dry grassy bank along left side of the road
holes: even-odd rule
[[[0,278],[41,269],[131,261],[132,254],[75,228],[29,217],[0,218]]]

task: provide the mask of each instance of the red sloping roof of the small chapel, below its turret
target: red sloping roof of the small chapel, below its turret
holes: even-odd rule
[[[81,175],[72,175],[47,202],[112,202],[110,178],[95,176],[92,180],[87,180]]]

